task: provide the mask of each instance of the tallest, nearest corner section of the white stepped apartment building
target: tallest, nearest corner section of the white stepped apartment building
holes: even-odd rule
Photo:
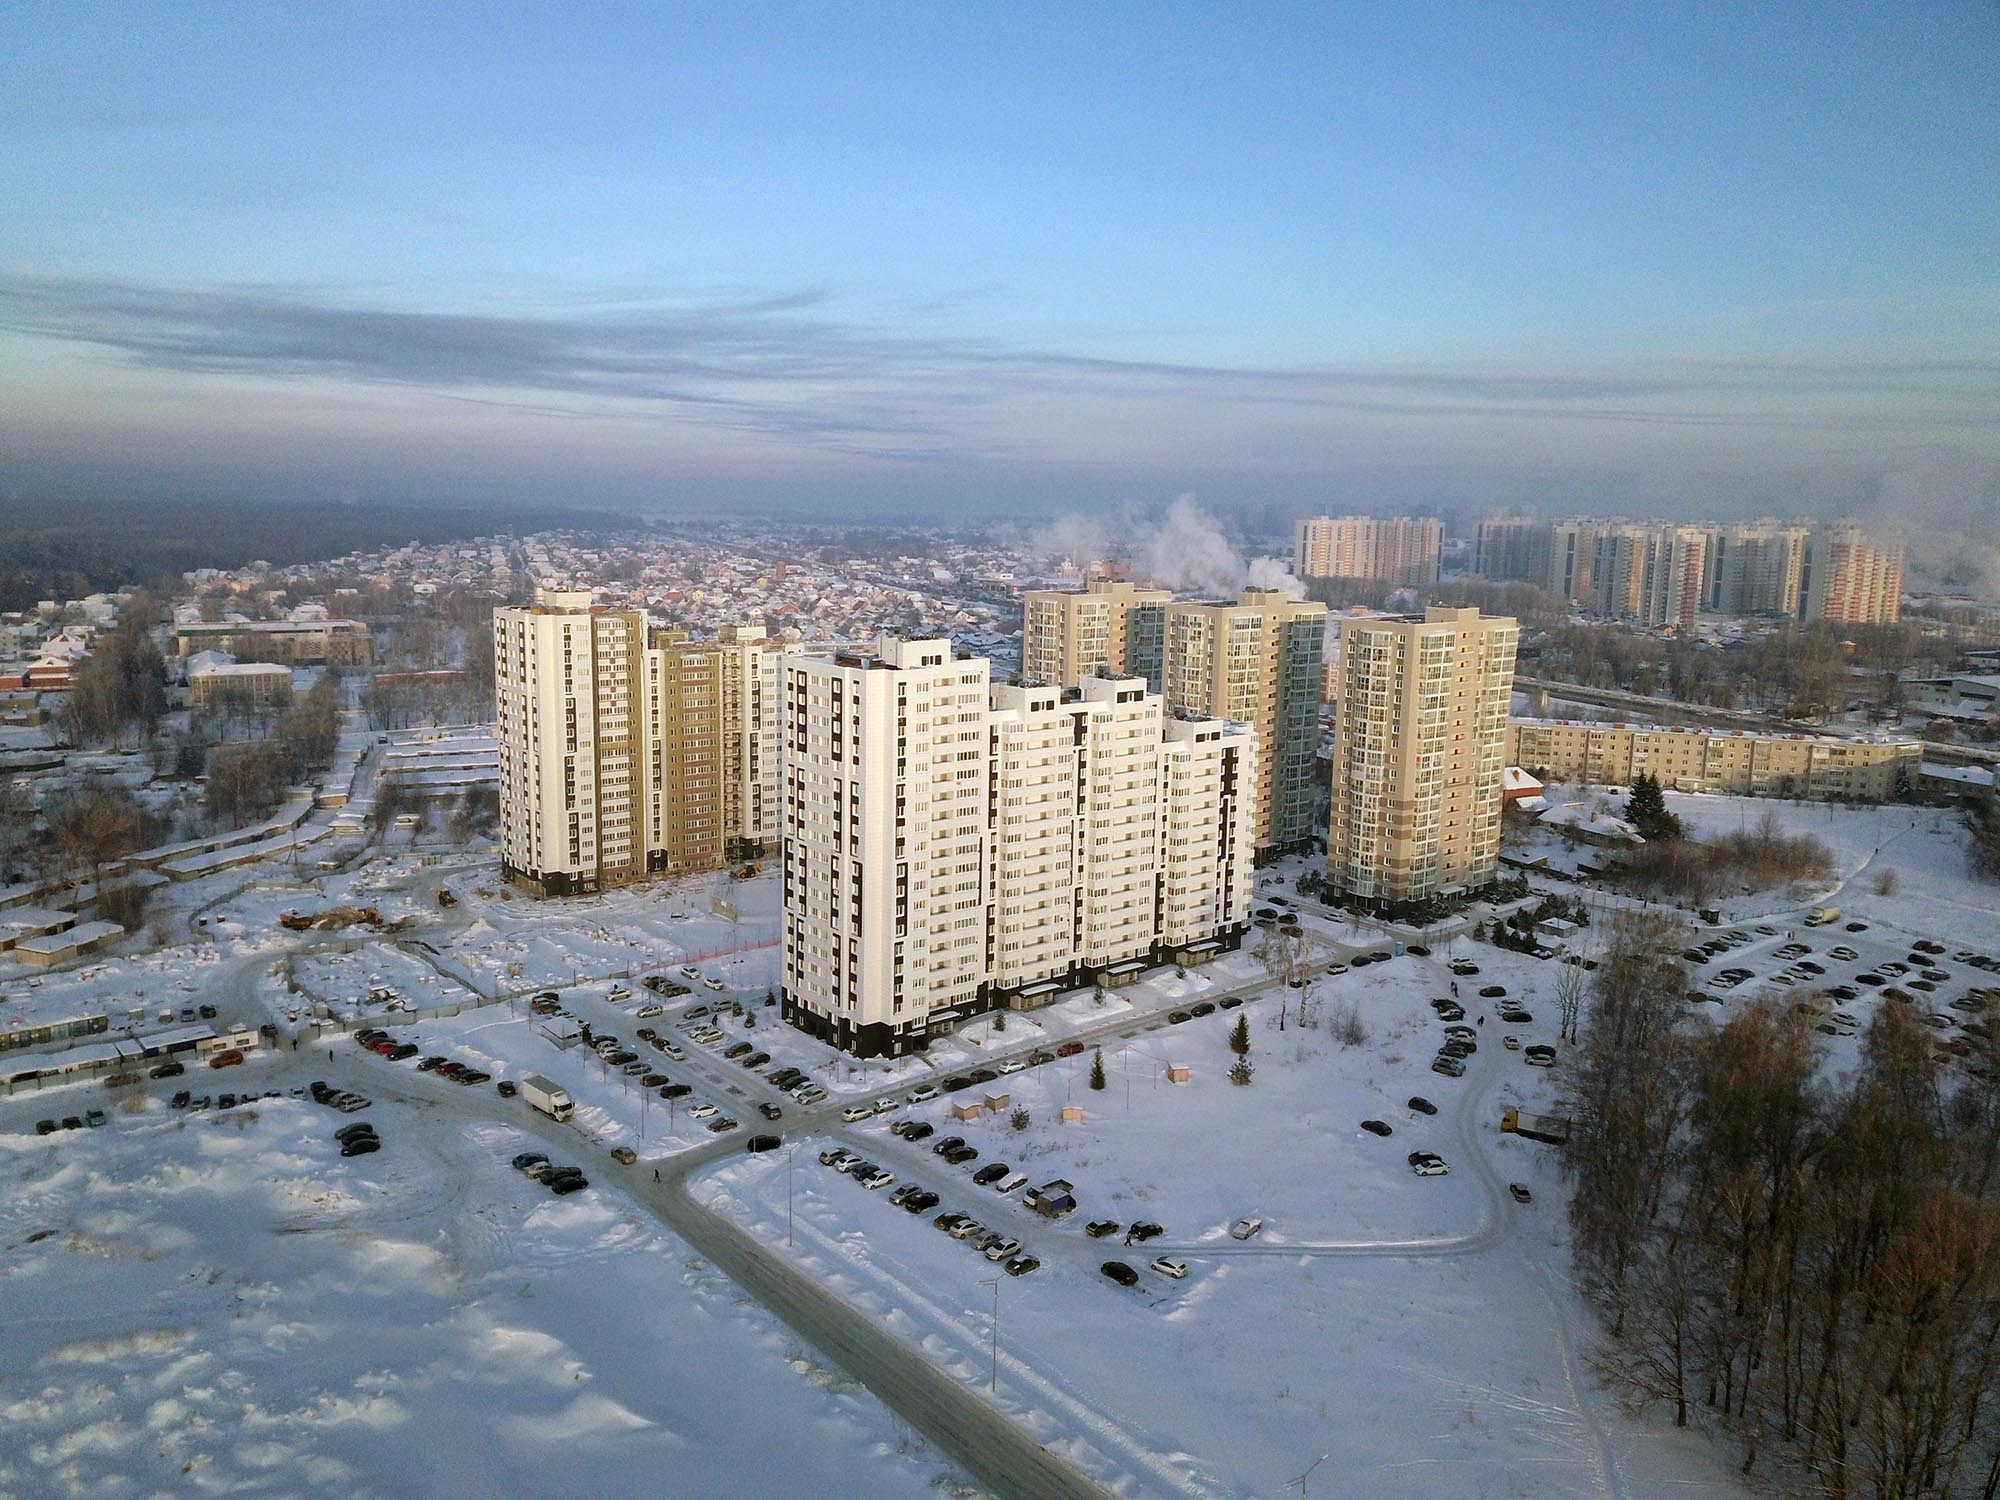
[[[984,1004],[988,662],[884,636],[778,672],[784,1018],[902,1054]]]

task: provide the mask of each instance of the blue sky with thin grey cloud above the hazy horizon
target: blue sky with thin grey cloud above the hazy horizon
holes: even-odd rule
[[[10,6],[0,496],[2000,516],[2000,6]]]

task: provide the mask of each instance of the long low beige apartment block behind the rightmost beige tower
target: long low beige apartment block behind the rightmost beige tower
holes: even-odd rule
[[[1882,802],[1916,780],[1922,744],[1522,718],[1506,758],[1558,782],[1630,786],[1644,772],[1678,792]]]

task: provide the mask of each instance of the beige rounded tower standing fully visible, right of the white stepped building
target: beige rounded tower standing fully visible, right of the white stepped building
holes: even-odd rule
[[[1328,886],[1384,910],[1492,882],[1514,620],[1430,608],[1340,638]]]

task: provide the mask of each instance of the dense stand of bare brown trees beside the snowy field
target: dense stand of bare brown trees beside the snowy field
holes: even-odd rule
[[[1834,1500],[2000,1492],[2000,1056],[1884,992],[1852,1068],[1820,1004],[1720,1026],[1678,924],[1620,918],[1568,1104],[1574,1256],[1634,1390]]]

